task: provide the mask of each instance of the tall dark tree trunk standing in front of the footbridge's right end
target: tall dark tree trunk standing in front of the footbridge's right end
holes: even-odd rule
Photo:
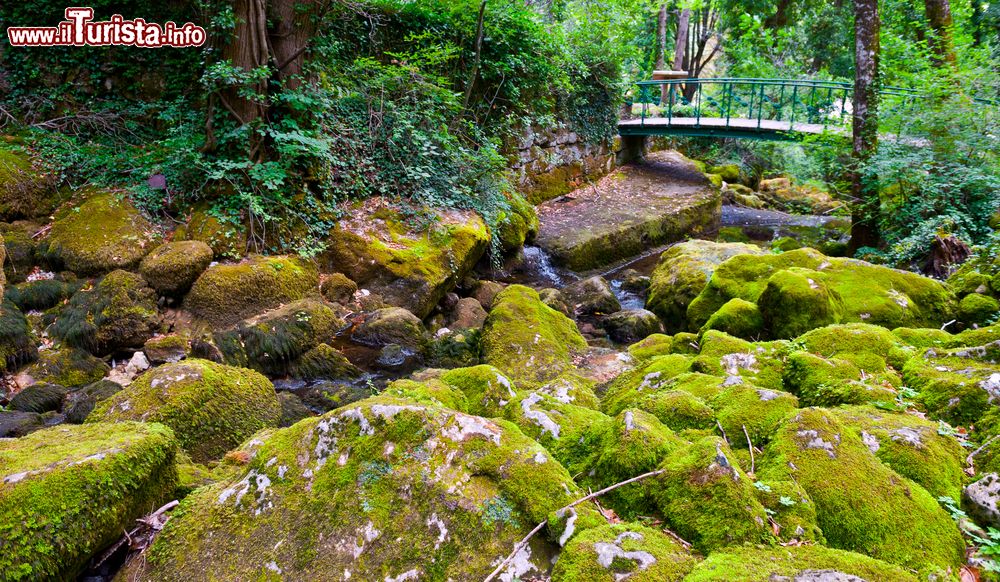
[[[862,165],[878,147],[878,0],[854,0],[854,168],[851,175],[852,251],[879,243],[878,189],[862,180]]]

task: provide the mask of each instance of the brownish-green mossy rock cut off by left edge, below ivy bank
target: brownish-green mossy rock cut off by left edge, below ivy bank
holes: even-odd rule
[[[46,216],[59,197],[53,177],[37,170],[28,154],[0,145],[0,220]]]

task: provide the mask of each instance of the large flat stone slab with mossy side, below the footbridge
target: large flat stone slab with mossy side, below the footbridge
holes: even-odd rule
[[[556,263],[587,271],[718,228],[721,196],[676,152],[650,154],[538,207],[537,243]]]

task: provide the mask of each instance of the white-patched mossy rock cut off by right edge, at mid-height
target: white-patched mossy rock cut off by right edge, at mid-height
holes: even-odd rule
[[[930,348],[903,368],[903,380],[931,418],[955,426],[975,424],[1000,395],[1000,343],[985,346]]]

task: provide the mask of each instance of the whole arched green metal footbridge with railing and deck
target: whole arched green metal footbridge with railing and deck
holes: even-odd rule
[[[636,86],[631,117],[618,124],[623,137],[798,140],[824,132],[851,133],[851,83],[709,78],[640,81]],[[883,131],[900,139],[907,112],[924,95],[915,89],[883,87],[880,96]],[[888,127],[887,121],[896,127]]]

